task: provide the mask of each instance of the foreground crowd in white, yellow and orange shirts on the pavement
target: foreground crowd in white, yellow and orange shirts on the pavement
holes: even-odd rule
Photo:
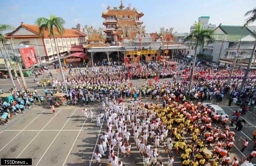
[[[168,166],[173,165],[174,156],[181,158],[183,166],[205,166],[208,162],[212,166],[239,164],[236,156],[230,157],[236,131],[231,130],[228,118],[222,118],[221,114],[211,118],[212,110],[200,102],[171,101],[161,106],[135,100],[128,102],[126,108],[124,103],[112,100],[107,106],[103,103],[102,110],[105,115],[100,112],[96,116],[97,126],[101,126],[105,118],[107,129],[100,136],[94,154],[98,165],[105,156],[111,166],[123,166],[122,158],[130,158],[133,150],[143,156],[145,166],[163,166],[163,161],[158,159],[161,148],[165,148]],[[248,140],[241,140],[244,141],[241,151],[244,151]],[[245,162],[255,156],[256,149]]]

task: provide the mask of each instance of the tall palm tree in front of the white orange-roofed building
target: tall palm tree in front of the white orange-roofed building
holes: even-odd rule
[[[64,26],[63,25],[64,25],[65,21],[61,17],[56,17],[55,15],[50,15],[50,19],[41,17],[41,18],[38,18],[35,23],[36,23],[36,25],[39,26],[39,35],[41,37],[44,37],[44,31],[48,31],[50,33],[49,36],[52,36],[53,39],[54,39],[55,48],[56,48],[56,51],[57,51],[57,57],[58,57],[58,61],[59,61],[59,64],[60,64],[60,73],[61,73],[61,76],[62,76],[62,79],[63,79],[63,82],[64,82],[64,87],[65,87],[66,93],[68,93],[66,80],[65,80],[65,77],[64,77],[64,73],[63,73],[62,65],[61,65],[61,61],[60,61],[59,50],[57,48],[57,43],[56,43],[56,38],[55,38],[55,35],[56,35],[55,31],[57,31],[57,33],[60,36],[63,35],[63,33],[64,33]]]

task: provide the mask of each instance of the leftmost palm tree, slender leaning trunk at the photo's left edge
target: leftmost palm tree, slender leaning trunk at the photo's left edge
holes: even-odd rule
[[[0,42],[3,44],[3,47],[4,47],[6,55],[7,55],[7,51],[6,51],[6,47],[4,45],[4,43],[6,42],[6,39],[4,37],[4,34],[2,34],[1,32],[6,31],[6,30],[14,30],[14,29],[15,28],[13,26],[9,26],[9,25],[6,25],[6,24],[0,24]],[[9,77],[11,78],[12,85],[15,88],[15,82],[13,80],[13,77],[12,77],[12,74],[11,74],[11,70],[9,68],[9,64],[7,62],[7,59],[6,59],[5,55],[4,55],[4,52],[3,52],[1,47],[0,47],[0,52],[3,55],[4,63],[5,63],[6,68],[8,70]]]

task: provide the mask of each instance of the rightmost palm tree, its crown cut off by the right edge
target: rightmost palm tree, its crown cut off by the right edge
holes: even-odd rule
[[[255,22],[256,21],[256,7],[253,8],[252,10],[250,11],[247,11],[245,13],[245,16],[248,16],[248,15],[251,15],[248,19],[246,19],[246,22],[245,22],[245,25],[244,26],[248,26],[249,23],[252,23],[252,22]],[[256,37],[256,36],[255,36]],[[248,77],[248,74],[249,74],[249,71],[251,70],[251,66],[252,66],[252,59],[254,57],[254,52],[255,52],[255,48],[256,48],[256,39],[254,41],[254,46],[253,46],[253,49],[252,49],[252,54],[251,54],[251,57],[250,57],[250,60],[249,60],[249,63],[248,63],[248,66],[247,66],[247,69],[245,71],[245,77],[243,77],[243,81],[240,85],[240,89],[239,91],[242,92],[243,89],[244,89],[244,86],[245,86],[245,82],[247,80],[247,77]]]

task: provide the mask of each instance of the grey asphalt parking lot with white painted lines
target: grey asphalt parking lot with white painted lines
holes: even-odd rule
[[[101,111],[100,103],[90,106],[95,114]],[[229,116],[238,107],[222,107]],[[231,156],[238,158],[247,157],[252,151],[252,133],[256,129],[255,117],[250,113],[243,117],[247,126],[242,132],[237,133],[236,146],[231,149]],[[220,125],[218,125],[220,126]],[[34,107],[11,119],[7,126],[0,125],[0,158],[31,158],[33,166],[94,166],[92,160],[93,152],[98,149],[96,143],[105,131],[106,125],[97,127],[96,122],[83,117],[82,107],[60,107],[53,114],[50,109]],[[240,136],[249,140],[248,148],[241,152],[242,141]],[[190,137],[186,137],[188,142]],[[132,142],[133,138],[131,137]],[[213,145],[213,144],[212,144]],[[118,149],[117,156],[129,166],[142,166],[143,157],[138,155],[137,149],[132,144],[132,158],[120,157]],[[167,164],[168,156],[164,153],[164,146],[160,146],[158,161]],[[211,147],[213,148],[213,147]],[[210,148],[210,149],[211,149]],[[173,152],[176,155],[176,152]],[[102,162],[108,163],[104,157]],[[256,159],[252,162],[256,164]],[[178,166],[180,158],[176,158],[174,165]]]

